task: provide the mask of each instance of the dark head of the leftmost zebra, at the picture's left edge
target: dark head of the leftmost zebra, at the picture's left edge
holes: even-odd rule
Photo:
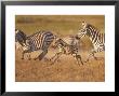
[[[18,29],[15,29],[15,42],[18,42],[22,46],[26,44],[26,35]]]

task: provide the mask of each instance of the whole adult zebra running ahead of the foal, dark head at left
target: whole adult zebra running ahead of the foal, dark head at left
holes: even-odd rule
[[[42,30],[31,36],[26,36],[22,30],[15,29],[15,42],[18,42],[23,46],[22,59],[24,59],[25,53],[31,53],[34,51],[41,50],[42,53],[34,58],[41,60],[48,53],[50,44],[54,40],[54,35],[51,31]],[[30,59],[30,55],[29,58]]]

